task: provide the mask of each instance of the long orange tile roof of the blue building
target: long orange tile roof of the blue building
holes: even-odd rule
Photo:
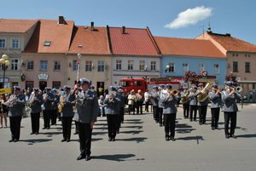
[[[225,58],[209,40],[154,37],[161,54]]]

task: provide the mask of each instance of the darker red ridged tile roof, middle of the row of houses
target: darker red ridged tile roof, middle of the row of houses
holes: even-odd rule
[[[147,29],[109,27],[113,54],[159,55]]]

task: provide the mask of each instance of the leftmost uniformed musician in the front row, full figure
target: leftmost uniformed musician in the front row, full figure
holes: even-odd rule
[[[20,122],[25,103],[25,95],[20,93],[20,87],[14,86],[14,94],[5,102],[5,105],[9,107],[8,116],[11,131],[11,140],[9,140],[9,142],[17,142],[20,140]]]

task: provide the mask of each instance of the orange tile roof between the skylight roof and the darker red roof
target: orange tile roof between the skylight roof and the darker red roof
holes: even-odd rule
[[[75,26],[68,53],[110,54],[106,27]]]

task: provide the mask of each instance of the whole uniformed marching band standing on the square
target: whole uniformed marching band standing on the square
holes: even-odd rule
[[[199,124],[206,124],[207,106],[211,108],[211,128],[218,128],[220,109],[224,111],[224,135],[236,139],[236,102],[241,100],[241,87],[235,86],[231,81],[225,83],[225,88],[218,88],[217,83],[202,83],[192,85],[184,89],[181,96],[177,89],[172,89],[171,84],[160,84],[148,91],[147,102],[153,106],[155,123],[164,126],[166,141],[175,141],[175,128],[177,107],[180,98],[183,104],[183,118],[189,118],[190,122],[196,121],[199,112]],[[140,93],[141,94],[141,93]],[[142,94],[143,95],[143,94]],[[14,94],[9,100],[1,102],[8,108],[8,116],[11,130],[11,140],[20,140],[20,122],[25,106],[31,108],[32,133],[39,133],[40,113],[43,111],[44,128],[49,129],[50,120],[55,124],[59,114],[61,117],[63,139],[61,142],[69,142],[73,120],[76,122],[76,134],[79,134],[80,156],[78,160],[90,160],[91,133],[96,123],[96,118],[107,116],[108,141],[114,141],[119,134],[121,123],[124,122],[125,99],[128,100],[129,114],[135,111],[134,103],[137,95],[134,90],[125,97],[122,87],[109,87],[109,93],[98,100],[97,94],[90,89],[90,80],[80,78],[75,88],[66,85],[60,91],[45,88],[43,94],[39,88],[33,88],[32,94],[26,100],[20,93],[20,87],[14,87]],[[141,97],[143,98],[143,97]],[[143,98],[144,99],[144,98]],[[100,108],[101,106],[101,108]],[[142,109],[140,109],[142,112]],[[148,109],[146,109],[148,110]],[[137,109],[138,114],[138,109]],[[230,125],[230,126],[229,126]]]

